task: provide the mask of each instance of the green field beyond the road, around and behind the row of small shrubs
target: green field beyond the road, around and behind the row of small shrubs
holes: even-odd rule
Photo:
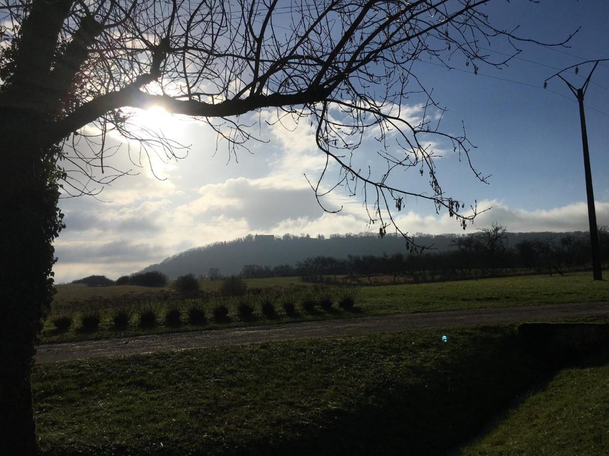
[[[245,281],[250,288],[276,288],[278,290],[292,289],[300,286],[303,289],[313,289],[305,285],[300,278],[284,277],[270,279],[251,279]],[[214,284],[219,288],[221,281],[203,281]],[[82,331],[78,328],[76,317],[74,327],[66,333],[54,330],[51,320],[47,320],[41,336],[42,342],[66,342],[69,340],[104,339],[108,337],[136,336],[138,334],[156,334],[176,331],[192,331],[202,329],[227,328],[234,326],[266,325],[298,321],[312,321],[328,318],[343,318],[364,315],[379,315],[391,313],[412,313],[428,311],[448,311],[475,308],[500,308],[505,306],[527,306],[555,304],[565,302],[594,302],[609,300],[609,282],[594,281],[590,272],[574,273],[565,276],[530,275],[523,277],[488,278],[484,280],[463,280],[459,282],[423,283],[418,285],[384,285],[362,286],[356,300],[356,312],[338,309],[336,304],[331,311],[317,308],[314,313],[308,313],[297,306],[296,312],[287,314],[279,304],[272,318],[265,317],[259,308],[255,309],[252,317],[244,319],[236,311],[236,303],[229,300],[228,319],[216,322],[211,316],[213,303],[206,303],[205,309],[208,322],[205,325],[189,325],[186,320],[180,326],[168,326],[160,322],[153,328],[141,328],[135,323],[121,330],[115,330],[110,322],[107,311],[100,313],[102,321],[98,331]],[[144,292],[169,293],[167,289],[146,288],[141,286],[110,286],[86,288],[83,286],[64,285],[58,288],[53,311],[77,311],[85,299],[100,297],[118,299],[127,295],[127,302]],[[340,289],[338,289],[340,292]],[[131,296],[132,298],[129,298]],[[160,319],[166,311],[166,303],[159,303]],[[137,310],[136,308],[134,309]]]

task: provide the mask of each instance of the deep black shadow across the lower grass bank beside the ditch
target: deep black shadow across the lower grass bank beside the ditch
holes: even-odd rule
[[[447,344],[439,336],[424,342],[442,347],[431,362],[423,358],[425,364],[409,364],[399,373],[394,371],[399,364],[379,365],[379,375],[352,399],[339,398],[333,407],[316,409],[289,429],[279,424],[277,429],[246,434],[242,440],[231,441],[230,449],[224,441],[188,435],[184,440],[163,440],[164,447],[155,449],[134,444],[118,451],[104,446],[103,454],[446,454],[479,435],[514,398],[547,381],[557,367],[523,345],[513,328],[477,327],[471,330],[477,334],[475,338],[468,337],[467,331],[449,336]],[[387,345],[383,350],[409,351],[410,339],[404,344]],[[594,353],[582,364],[607,361],[609,354]],[[154,379],[137,381],[145,390],[157,387]],[[102,454],[99,449],[79,454]],[[69,452],[64,447],[46,454]]]

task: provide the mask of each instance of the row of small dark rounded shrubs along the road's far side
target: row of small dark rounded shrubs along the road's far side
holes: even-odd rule
[[[278,310],[283,309],[286,316],[297,317],[298,305],[305,314],[319,314],[319,309],[332,312],[335,306],[345,311],[351,311],[357,299],[354,288],[332,289],[314,287],[305,291],[288,290],[277,292],[264,289],[258,292],[246,292],[232,299],[222,295],[203,299],[171,300],[161,304],[153,300],[108,309],[107,316],[111,326],[123,330],[130,325],[139,328],[154,328],[159,325],[178,327],[181,325],[205,325],[208,313],[216,323],[227,323],[231,320],[229,304],[233,303],[236,314],[242,320],[253,320],[259,314],[266,319],[278,318]],[[92,332],[99,330],[103,314],[99,309],[86,309],[80,313],[65,313],[51,316],[55,330],[65,333],[80,323],[80,331]]]

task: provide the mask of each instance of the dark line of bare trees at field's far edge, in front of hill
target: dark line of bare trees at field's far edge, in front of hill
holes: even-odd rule
[[[609,230],[606,226],[600,228],[600,244],[606,268],[609,260]],[[294,265],[247,264],[240,275],[244,278],[300,276],[308,282],[323,282],[332,275],[368,278],[390,275],[394,282],[407,277],[418,283],[527,272],[564,274],[589,268],[590,256],[588,233],[568,233],[560,238],[529,238],[508,246],[505,227],[493,224],[491,228],[455,237],[451,248],[442,252],[427,250],[416,255],[398,252],[381,256],[348,255],[347,258],[317,255]]]

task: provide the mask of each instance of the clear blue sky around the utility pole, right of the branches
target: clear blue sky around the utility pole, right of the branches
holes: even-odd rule
[[[447,75],[438,67],[428,71],[434,93],[450,109],[449,119],[465,121],[468,136],[478,147],[476,165],[493,174],[490,187],[468,190],[471,188],[471,195],[475,193],[479,199],[500,199],[508,206],[527,210],[585,201],[577,102],[558,78],[549,82],[546,91],[542,86],[543,80],[556,72],[552,67],[562,69],[582,60],[609,57],[609,5],[602,1],[495,5],[500,8],[489,10],[501,12],[501,22],[521,24],[523,35],[543,41],[560,41],[577,27],[582,29],[569,48],[524,44],[518,57],[537,63],[517,58],[507,69],[481,69],[478,76],[459,71]],[[487,49],[492,51],[493,47]],[[603,65],[594,72],[585,104],[606,113],[586,109],[595,196],[608,201],[609,62]],[[590,65],[583,66],[579,76],[571,73],[568,79],[580,85],[589,69]]]

